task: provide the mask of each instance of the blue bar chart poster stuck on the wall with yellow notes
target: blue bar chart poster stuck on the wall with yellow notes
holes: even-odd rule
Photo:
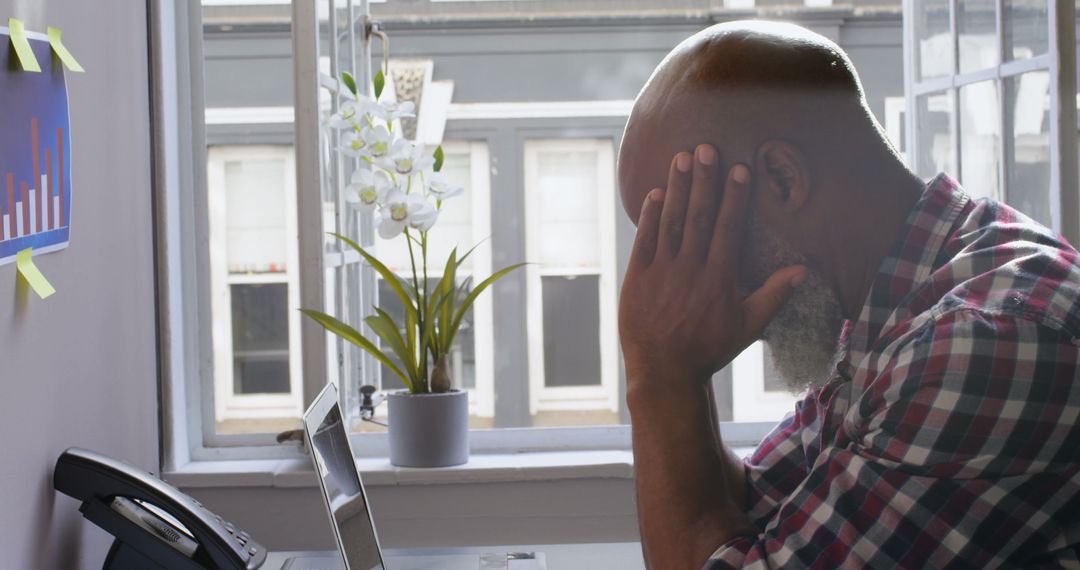
[[[0,27],[0,264],[68,245],[71,141],[64,64],[49,37],[26,32],[41,72],[24,71]]]

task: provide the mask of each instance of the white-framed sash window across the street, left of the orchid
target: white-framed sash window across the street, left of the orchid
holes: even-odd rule
[[[207,151],[218,433],[281,432],[300,417],[293,157],[291,147]]]

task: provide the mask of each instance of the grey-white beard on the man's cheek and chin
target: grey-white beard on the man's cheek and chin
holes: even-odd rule
[[[836,366],[843,326],[836,295],[810,269],[806,258],[757,215],[751,216],[745,240],[746,257],[742,264],[747,274],[740,280],[744,294],[760,287],[769,275],[787,266],[799,263],[810,270],[807,280],[766,327],[761,340],[769,345],[780,380],[793,393],[822,386]]]

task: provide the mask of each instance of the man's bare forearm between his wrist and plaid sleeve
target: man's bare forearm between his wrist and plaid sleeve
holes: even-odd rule
[[[642,540],[651,568],[697,570],[720,544],[754,534],[741,463],[713,426],[704,383],[627,391]],[[734,469],[734,467],[738,467]]]

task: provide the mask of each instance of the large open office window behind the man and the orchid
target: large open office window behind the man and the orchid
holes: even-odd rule
[[[969,192],[1078,238],[1077,128],[1063,123],[1075,120],[1077,92],[1069,83],[1074,91],[1059,93],[1070,80],[1055,67],[1058,56],[1075,65],[1076,54],[1056,53],[1059,2],[855,0],[832,2],[837,18],[828,26],[800,19],[805,6],[829,3],[726,0],[704,14],[700,2],[680,0],[648,30],[627,24],[640,2],[372,3],[391,40],[388,89],[449,100],[445,125],[429,126],[445,126],[447,175],[467,194],[444,212],[432,259],[451,243],[480,243],[461,275],[474,283],[531,262],[480,298],[453,352],[454,381],[471,392],[475,449],[629,442],[625,426],[615,425],[627,419],[615,307],[634,228],[615,191],[613,157],[633,97],[688,22],[704,27],[728,9],[789,9],[840,39],[872,108],[920,175],[951,173]],[[171,9],[181,55],[170,87],[181,94],[172,140],[191,157],[174,165],[187,180],[181,190],[161,202],[172,232],[163,234],[163,264],[173,269],[160,281],[168,287],[163,314],[177,323],[170,385],[185,386],[173,390],[184,393],[172,409],[186,421],[172,425],[185,429],[180,445],[197,458],[294,453],[274,435],[296,425],[322,383],[339,383],[353,419],[360,385],[396,385],[295,311],[322,309],[363,328],[366,311],[388,298],[327,231],[357,236],[399,271],[407,267],[404,244],[375,239],[370,218],[345,203],[355,164],[327,152],[338,135],[320,124],[350,96],[335,79],[341,71],[363,84],[381,64],[381,43],[363,38],[365,5],[204,0]],[[901,5],[903,21],[891,12]],[[597,18],[597,6],[611,17]],[[523,15],[542,15],[544,25],[526,26]],[[903,72],[893,65],[901,59]],[[420,67],[408,78],[393,71]],[[441,267],[429,270],[434,277]],[[772,380],[764,344],[718,374],[715,388],[718,416],[739,430],[778,420],[796,398]],[[516,430],[526,426],[561,429]],[[354,437],[364,452],[379,452],[384,440]]]

